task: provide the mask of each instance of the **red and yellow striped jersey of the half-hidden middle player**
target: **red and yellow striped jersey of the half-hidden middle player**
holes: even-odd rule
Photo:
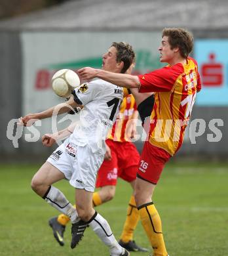
[[[129,141],[126,137],[126,125],[128,120],[132,119],[134,112],[137,110],[136,102],[134,96],[127,95],[123,98],[123,102],[120,107],[119,115],[117,120],[113,124],[112,129],[110,129],[107,139],[111,139],[118,142]]]

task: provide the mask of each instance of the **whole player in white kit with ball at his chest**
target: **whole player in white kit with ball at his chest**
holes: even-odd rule
[[[123,42],[113,43],[103,56],[102,68],[124,73],[134,58],[135,54],[130,45]],[[92,207],[96,172],[104,160],[104,140],[109,126],[113,124],[118,114],[122,98],[123,90],[116,85],[102,80],[85,83],[79,89],[75,89],[73,97],[66,102],[67,104],[56,106],[58,114],[62,114],[68,112],[69,108],[83,105],[79,125],[64,129],[54,138],[50,135],[43,137],[43,144],[47,145],[51,140],[62,139],[73,132],[64,144],[52,153],[31,181],[31,188],[39,196],[71,219],[71,248],[79,243],[86,226],[89,225],[109,247],[111,256],[130,255],[118,244],[104,217]],[[51,117],[56,112],[56,107],[39,114],[29,114],[20,121],[24,125],[29,125],[31,119]],[[65,178],[75,187],[76,209],[58,188],[52,186],[54,182]]]

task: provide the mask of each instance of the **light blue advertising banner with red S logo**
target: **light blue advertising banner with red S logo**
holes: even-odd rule
[[[199,106],[228,106],[228,40],[199,39],[194,56],[199,64],[202,91]]]

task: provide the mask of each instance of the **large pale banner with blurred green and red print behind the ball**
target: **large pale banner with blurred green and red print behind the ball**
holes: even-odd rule
[[[85,66],[101,68],[102,54],[113,41],[126,41],[134,47],[135,74],[162,66],[158,53],[161,43],[159,32],[26,32],[22,33],[21,39],[24,115],[41,112],[64,102],[64,98],[52,91],[52,75],[62,68],[74,71]],[[50,131],[50,121],[42,120],[41,127],[37,129],[47,133]]]

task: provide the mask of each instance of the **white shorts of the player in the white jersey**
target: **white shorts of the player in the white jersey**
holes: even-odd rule
[[[89,145],[78,146],[68,138],[47,161],[62,171],[74,188],[94,192],[96,174],[104,161],[104,154],[94,154]]]

